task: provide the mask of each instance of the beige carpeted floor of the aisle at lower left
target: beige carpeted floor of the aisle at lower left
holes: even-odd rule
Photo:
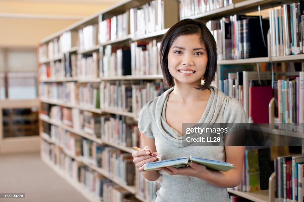
[[[76,189],[45,164],[39,152],[0,154],[0,192],[24,193],[25,198],[4,202],[86,202]]]

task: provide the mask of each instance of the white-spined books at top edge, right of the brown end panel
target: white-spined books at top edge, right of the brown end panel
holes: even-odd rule
[[[232,4],[231,0],[181,0],[180,2],[180,17],[181,19],[198,15],[200,13],[209,12],[215,9],[226,7]]]

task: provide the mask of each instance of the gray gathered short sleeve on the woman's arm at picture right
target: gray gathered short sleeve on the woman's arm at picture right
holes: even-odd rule
[[[223,120],[228,127],[228,134],[238,131],[240,129],[246,129],[246,123],[248,123],[247,115],[240,101],[236,98],[227,97],[224,100],[224,117]]]

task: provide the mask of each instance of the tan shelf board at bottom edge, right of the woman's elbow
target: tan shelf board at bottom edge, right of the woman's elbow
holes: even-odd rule
[[[254,202],[268,202],[269,201],[268,190],[244,192],[244,191],[228,189],[228,192],[230,192],[231,194],[238,195],[243,198],[247,198]]]

